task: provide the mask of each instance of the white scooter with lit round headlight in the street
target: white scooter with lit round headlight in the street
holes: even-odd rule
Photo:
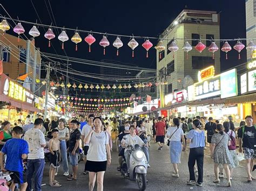
[[[126,137],[124,136],[124,139]],[[125,161],[123,158],[120,172],[125,178],[129,178],[130,180],[135,180],[138,183],[139,190],[145,190],[147,185],[146,174],[147,174],[147,160],[146,155],[142,151],[142,147],[138,144],[130,146],[126,146],[125,148],[129,148],[132,153],[130,156],[130,161]],[[126,162],[130,162],[130,176],[127,176],[127,164]]]

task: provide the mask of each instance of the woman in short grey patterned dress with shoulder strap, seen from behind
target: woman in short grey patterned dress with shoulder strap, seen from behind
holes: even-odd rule
[[[228,146],[231,145],[230,143],[230,136],[227,135],[227,133],[224,132],[224,127],[222,124],[218,124],[216,126],[219,133],[215,133],[212,136],[212,152],[211,157],[214,161],[214,174],[215,174],[215,180],[214,183],[219,183],[219,164],[222,164],[225,173],[227,176],[227,183],[228,187],[231,187],[231,181],[230,181],[230,168],[228,167],[229,164],[231,164],[230,159],[230,152],[228,151]]]

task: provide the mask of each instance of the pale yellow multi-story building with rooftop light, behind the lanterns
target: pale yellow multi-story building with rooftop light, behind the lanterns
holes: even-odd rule
[[[185,88],[189,85],[187,81],[197,82],[198,71],[208,66],[213,65],[215,74],[220,73],[220,51],[215,52],[215,59],[208,51],[210,40],[220,38],[219,19],[216,11],[183,10],[161,34],[161,38],[169,40],[163,41],[166,49],[161,53],[161,59],[157,52],[157,79],[166,82],[165,86],[158,86],[158,96],[159,87],[163,88],[164,94],[168,94],[173,90]],[[186,41],[183,39],[188,39],[188,43],[193,47],[188,56],[181,49]],[[194,49],[199,39],[207,46],[201,53]],[[176,40],[179,47],[174,54],[168,49],[173,40]],[[219,41],[215,43],[220,48]]]

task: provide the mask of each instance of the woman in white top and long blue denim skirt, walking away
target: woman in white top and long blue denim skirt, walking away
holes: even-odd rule
[[[180,139],[182,139],[183,143],[183,151],[186,150],[186,144],[185,144],[185,138],[184,138],[184,132],[181,128],[179,128],[179,119],[174,118],[173,119],[173,125],[170,128],[167,129],[166,137],[168,139],[168,146],[170,146],[170,158],[171,163],[173,165],[174,172],[172,173],[172,176],[179,177],[178,173],[178,164],[180,163],[180,157],[181,157],[181,142]]]

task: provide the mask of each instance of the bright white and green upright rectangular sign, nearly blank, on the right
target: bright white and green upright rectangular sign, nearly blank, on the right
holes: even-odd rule
[[[231,69],[220,74],[221,98],[238,95],[237,91],[237,69]]]

